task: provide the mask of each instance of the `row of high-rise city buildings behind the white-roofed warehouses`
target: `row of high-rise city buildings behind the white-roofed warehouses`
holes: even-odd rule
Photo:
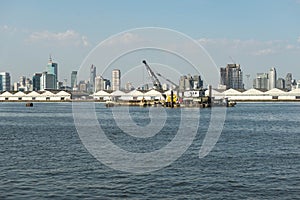
[[[11,74],[9,72],[0,72],[0,91],[44,91],[47,89],[50,90],[59,90],[59,89],[67,89],[73,91],[87,91],[87,92],[97,92],[99,90],[126,90],[126,88],[130,87],[132,89],[140,89],[147,85],[147,88],[151,85],[150,82],[143,82],[143,85],[136,84],[134,82],[126,82],[123,86],[121,85],[121,70],[113,69],[111,71],[111,79],[104,78],[102,75],[97,75],[96,66],[91,65],[90,74],[88,79],[79,80],[77,82],[77,71],[71,72],[71,83],[67,84],[66,79],[63,83],[61,80],[57,80],[58,74],[58,64],[52,61],[52,57],[50,55],[49,61],[47,64],[47,71],[42,73],[35,72],[31,77],[21,76],[19,81],[11,82]],[[153,72],[154,73],[154,72]],[[177,87],[179,91],[189,91],[189,90],[197,90],[199,88],[205,88],[203,85],[203,80],[201,80],[201,75],[194,75],[192,77],[189,73],[180,75],[178,79],[178,83],[174,83],[171,80],[164,77],[162,74],[155,72],[159,77],[162,77],[161,81],[166,88]],[[143,72],[143,75],[144,72]],[[6,76],[8,78],[6,78]],[[147,74],[146,74],[147,76]],[[247,75],[246,75],[247,76]],[[148,77],[150,79],[150,77]],[[249,77],[247,77],[249,78]],[[143,78],[144,79],[144,78]],[[8,81],[6,81],[8,80]],[[124,80],[123,80],[124,81]],[[134,80],[130,80],[134,81]],[[153,81],[153,80],[152,80]],[[125,81],[124,81],[125,82]],[[194,83],[195,82],[195,83]],[[254,89],[262,89],[262,90],[271,90],[273,88],[278,88],[282,90],[292,90],[292,87],[295,87],[299,84],[300,80],[293,78],[292,73],[287,73],[285,77],[278,77],[277,70],[275,67],[271,67],[269,73],[266,72],[258,72],[256,73],[256,78],[253,79],[253,85],[249,88]],[[112,85],[111,85],[112,83]],[[149,85],[150,83],[150,85]],[[171,85],[169,85],[171,83]],[[293,83],[293,84],[292,84]],[[129,84],[129,86],[128,86]],[[153,84],[153,83],[152,83]],[[178,84],[178,85],[177,85]],[[2,86],[7,85],[10,89],[3,89]],[[154,84],[155,85],[155,84]],[[249,88],[244,87],[243,81],[243,70],[239,64],[227,64],[226,68],[220,67],[220,81],[218,84],[218,89],[238,89],[245,90]],[[135,87],[134,87],[135,86]],[[153,86],[155,89],[155,87]],[[185,88],[185,89],[182,89]],[[151,87],[149,88],[151,89]],[[127,89],[128,90],[128,89]],[[167,89],[165,89],[167,90]]]

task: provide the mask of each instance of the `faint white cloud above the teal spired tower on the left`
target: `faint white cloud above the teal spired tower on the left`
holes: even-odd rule
[[[87,37],[84,35],[80,35],[74,30],[67,30],[65,32],[56,33],[47,30],[41,32],[33,32],[29,35],[29,38],[26,41],[29,43],[50,42],[51,44],[55,43],[56,45],[89,46]]]

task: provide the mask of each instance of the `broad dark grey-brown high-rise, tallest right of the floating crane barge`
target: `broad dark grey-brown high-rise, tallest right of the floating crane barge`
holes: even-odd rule
[[[227,64],[226,68],[220,68],[220,85],[227,89],[244,89],[243,72],[239,64]]]

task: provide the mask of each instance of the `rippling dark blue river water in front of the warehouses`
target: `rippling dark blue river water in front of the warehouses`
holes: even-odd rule
[[[137,153],[167,145],[182,112],[167,109],[166,116],[173,116],[165,121],[167,128],[135,138],[118,128],[111,108],[95,107],[107,138]],[[136,125],[151,122],[148,108],[129,110]],[[198,132],[179,159],[133,174],[112,169],[89,153],[76,131],[72,103],[1,103],[0,199],[299,199],[299,111],[299,103],[227,108],[217,144],[200,159],[211,117],[210,109],[201,109]]]

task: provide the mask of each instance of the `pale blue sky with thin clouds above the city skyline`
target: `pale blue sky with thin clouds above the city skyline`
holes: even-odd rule
[[[164,34],[155,33],[150,37],[145,32],[128,32],[143,27],[160,27],[184,34],[205,49],[217,68],[232,62],[240,64],[247,87],[256,73],[268,72],[271,67],[276,67],[279,77],[291,72],[295,79],[300,79],[300,0],[2,0],[0,5],[0,71],[10,72],[12,81],[45,71],[51,54],[59,64],[59,80],[67,79],[69,83],[71,71],[90,65],[84,61],[107,38],[109,44],[123,42],[127,47],[156,39],[167,46],[168,36]],[[184,42],[187,41],[175,40],[177,46],[168,44],[168,48],[195,54],[190,46],[183,47]],[[113,53],[112,49],[106,46],[98,52],[98,60],[93,60],[99,73],[104,69],[99,59],[105,57],[103,52]],[[136,63],[140,64],[142,56],[136,57],[139,59]],[[162,59],[155,60],[162,65],[173,59],[172,56],[156,58]],[[133,59],[131,56],[130,60]],[[137,66],[126,59],[123,61],[112,68],[122,71],[122,67]],[[179,73],[194,73],[183,63],[174,68]],[[145,76],[137,74],[136,71],[128,77]],[[111,78],[109,73],[105,75]],[[166,75],[178,81],[178,74]]]

